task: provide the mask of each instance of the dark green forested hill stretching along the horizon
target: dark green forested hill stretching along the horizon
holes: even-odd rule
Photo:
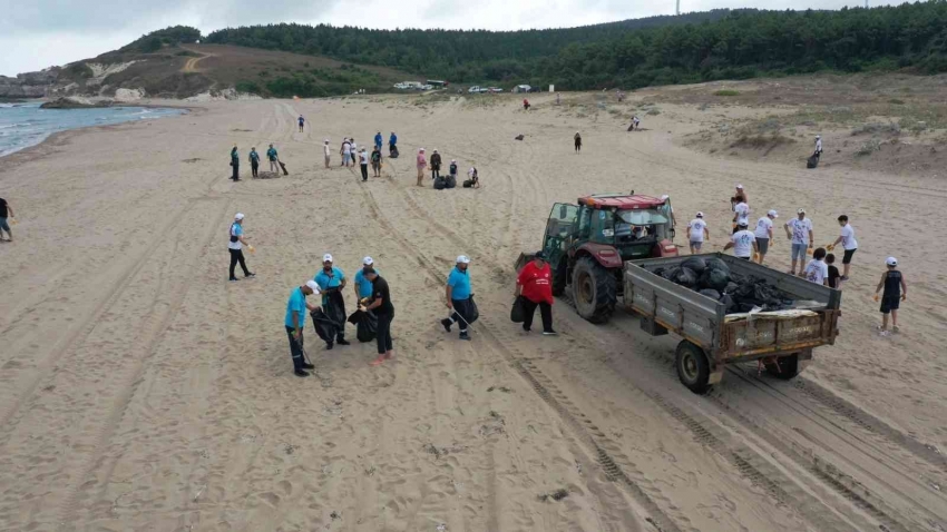
[[[947,71],[947,0],[840,11],[712,11],[509,32],[271,24],[207,42],[324,55],[452,82],[636,88],[819,70]]]

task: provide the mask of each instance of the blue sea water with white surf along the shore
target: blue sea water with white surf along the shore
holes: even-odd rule
[[[36,146],[57,131],[148,120],[186,112],[184,109],[147,107],[40,109],[39,106],[39,101],[0,104],[0,157]]]

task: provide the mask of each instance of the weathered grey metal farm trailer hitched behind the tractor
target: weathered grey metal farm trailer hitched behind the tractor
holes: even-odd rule
[[[723,378],[724,366],[761,361],[767,372],[793,378],[812,359],[812,351],[833,345],[838,336],[841,292],[790,274],[721,253],[730,270],[767,279],[806,308],[726,315],[723,303],[652,273],[677,266],[690,256],[647,258],[625,263],[624,305],[641,316],[641,328],[652,336],[673,332],[677,344],[677,376],[694,393],[705,393]]]

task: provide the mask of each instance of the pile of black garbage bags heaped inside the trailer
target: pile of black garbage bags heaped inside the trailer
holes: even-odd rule
[[[658,267],[652,273],[724,304],[726,314],[749,313],[754,308],[783,311],[794,304],[791,296],[767,279],[732,273],[725,262],[715,257],[691,257],[680,266]]]

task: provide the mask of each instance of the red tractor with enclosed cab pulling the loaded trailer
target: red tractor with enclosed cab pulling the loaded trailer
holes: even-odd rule
[[[546,223],[543,250],[553,269],[553,294],[572,286],[576,312],[606,323],[623,290],[625,260],[677,256],[671,205],[634,191],[577,203],[554,205]],[[520,255],[517,270],[531,259],[531,253]]]

